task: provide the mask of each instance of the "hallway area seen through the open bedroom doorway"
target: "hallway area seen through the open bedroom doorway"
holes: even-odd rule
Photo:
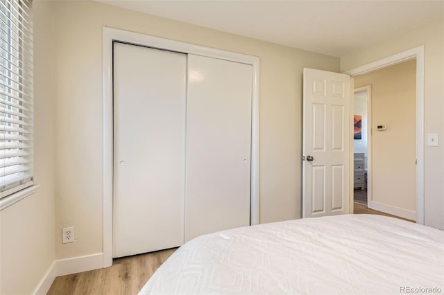
[[[416,220],[416,60],[357,76],[354,102],[354,201]]]

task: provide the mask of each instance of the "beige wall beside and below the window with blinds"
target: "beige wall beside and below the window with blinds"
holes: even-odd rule
[[[31,294],[54,260],[53,3],[34,3],[36,193],[0,212],[0,294]]]

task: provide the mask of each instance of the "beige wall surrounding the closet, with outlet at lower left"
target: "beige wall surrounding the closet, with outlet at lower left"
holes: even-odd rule
[[[300,218],[302,68],[339,59],[90,1],[56,1],[57,258],[102,251],[102,28],[110,26],[260,58],[260,222]]]

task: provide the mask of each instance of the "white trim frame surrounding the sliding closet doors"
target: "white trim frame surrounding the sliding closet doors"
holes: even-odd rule
[[[103,267],[112,265],[113,198],[113,42],[191,53],[253,66],[251,109],[250,224],[259,224],[259,57],[222,51],[171,39],[103,27]]]

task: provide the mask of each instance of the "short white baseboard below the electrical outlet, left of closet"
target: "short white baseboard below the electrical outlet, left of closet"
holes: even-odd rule
[[[57,276],[103,268],[103,253],[56,260]]]

